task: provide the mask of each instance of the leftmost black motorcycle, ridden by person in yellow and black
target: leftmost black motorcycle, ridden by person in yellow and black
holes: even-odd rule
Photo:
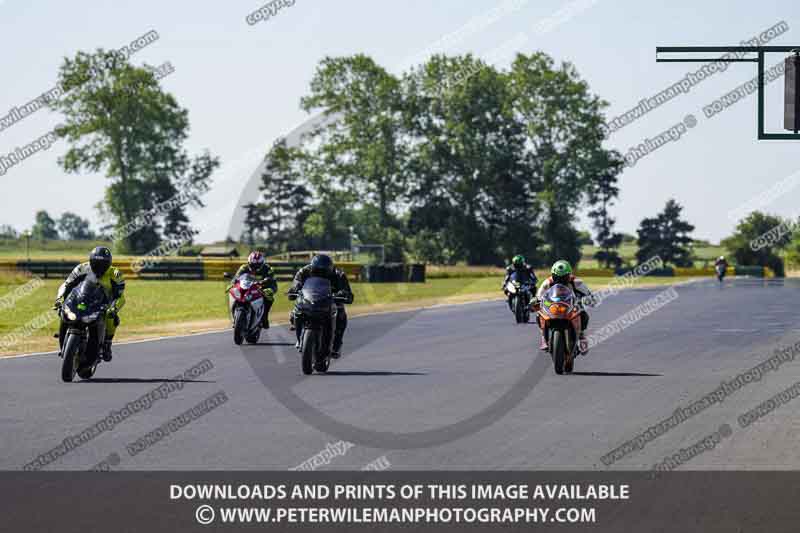
[[[82,281],[58,309],[67,326],[61,343],[61,379],[69,383],[77,374],[91,379],[100,364],[106,339],[108,296],[95,281]],[[61,340],[61,339],[60,339]]]

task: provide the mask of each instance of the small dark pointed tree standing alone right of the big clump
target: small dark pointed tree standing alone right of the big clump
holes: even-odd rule
[[[681,219],[683,207],[674,199],[667,201],[664,211],[653,218],[642,220],[637,230],[639,249],[636,260],[641,264],[660,257],[664,264],[679,267],[692,266],[690,236],[694,226]]]

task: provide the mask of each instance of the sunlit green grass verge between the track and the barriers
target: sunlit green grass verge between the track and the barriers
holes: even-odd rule
[[[612,278],[586,278],[595,289]],[[647,278],[645,284],[669,284],[686,278]],[[0,278],[0,298],[26,282],[20,276]],[[354,283],[355,304],[348,308],[352,316],[377,311],[402,310],[445,303],[459,303],[501,297],[499,277],[435,279],[427,283]],[[49,351],[56,346],[52,337],[57,329],[53,305],[60,282],[46,280],[8,308],[0,307],[0,343],[5,335],[30,323],[37,316],[52,317],[46,326],[24,336],[18,343],[0,346],[0,355]],[[280,287],[271,313],[275,323],[286,322],[291,302]],[[222,329],[228,326],[226,284],[215,281],[140,281],[127,284],[127,304],[121,312],[122,325],[116,340],[154,338]]]

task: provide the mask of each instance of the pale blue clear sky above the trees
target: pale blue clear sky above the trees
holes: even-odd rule
[[[701,67],[657,64],[657,45],[737,45],[785,21],[788,31],[769,44],[800,46],[800,4],[789,0],[296,0],[269,20],[248,24],[245,17],[264,4],[0,0],[0,116],[52,88],[64,56],[119,48],[157,31],[160,38],[132,62],[173,65],[162,84],[189,110],[188,148],[208,148],[223,162],[208,206],[192,213],[201,240],[209,240],[225,236],[236,197],[266,148],[307,118],[299,98],[326,55],[362,52],[400,72],[431,51],[472,52],[502,67],[512,59],[509,43],[521,52],[543,50],[574,63],[610,103],[611,118]],[[770,55],[767,63],[781,59]],[[756,140],[755,96],[713,118],[703,114],[703,106],[754,75],[753,64],[730,65],[610,137],[609,147],[626,152],[689,114],[697,120],[680,140],[625,170],[614,210],[619,229],[634,232],[675,197],[696,236],[717,241],[734,227],[731,210],[800,170],[800,146]],[[768,129],[782,127],[782,90],[782,81],[768,89]],[[58,120],[42,110],[0,131],[0,155],[40,138]],[[29,227],[38,209],[70,210],[99,222],[93,206],[107,180],[64,174],[56,160],[65,150],[58,142],[0,176],[0,224]],[[763,209],[796,216],[798,193],[770,195]]]

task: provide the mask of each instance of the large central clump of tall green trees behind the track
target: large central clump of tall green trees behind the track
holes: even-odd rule
[[[589,208],[601,253],[621,263],[610,207],[619,153],[607,103],[569,63],[518,54],[507,69],[438,55],[395,76],[365,55],[323,59],[300,100],[325,120],[266,155],[242,238],[268,251],[383,244],[387,259],[577,263]]]

